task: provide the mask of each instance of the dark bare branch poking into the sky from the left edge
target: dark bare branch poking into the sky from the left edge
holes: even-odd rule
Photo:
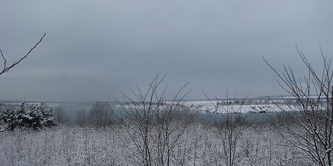
[[[40,44],[40,42],[42,42],[42,40],[44,39],[45,35],[46,35],[46,33],[44,33],[44,35],[40,38],[40,40],[35,44],[35,46],[33,46],[28,51],[28,53],[26,53],[26,55],[24,55],[18,61],[13,62],[10,65],[8,65],[7,59],[6,59],[5,55],[3,55],[2,50],[0,49],[0,54],[1,54],[1,57],[3,59],[3,68],[2,68],[2,70],[0,70],[0,75],[2,75],[3,73],[6,73],[8,71],[10,71],[11,68],[14,68],[15,66],[17,66],[17,64],[19,64],[20,62],[22,62],[22,60],[26,59],[26,57],[28,57],[28,55],[31,54],[31,52],[38,46],[38,44]],[[1,127],[0,127],[0,133],[3,132],[3,131],[6,131],[7,129],[9,129],[9,127],[4,127],[3,129],[1,129]]]

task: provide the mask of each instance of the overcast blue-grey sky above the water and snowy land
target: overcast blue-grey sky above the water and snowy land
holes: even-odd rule
[[[10,62],[0,100],[121,99],[168,73],[167,97],[189,82],[188,99],[225,91],[250,97],[284,92],[262,55],[304,74],[295,45],[314,66],[333,53],[333,1],[108,0],[1,1],[0,48]]]

